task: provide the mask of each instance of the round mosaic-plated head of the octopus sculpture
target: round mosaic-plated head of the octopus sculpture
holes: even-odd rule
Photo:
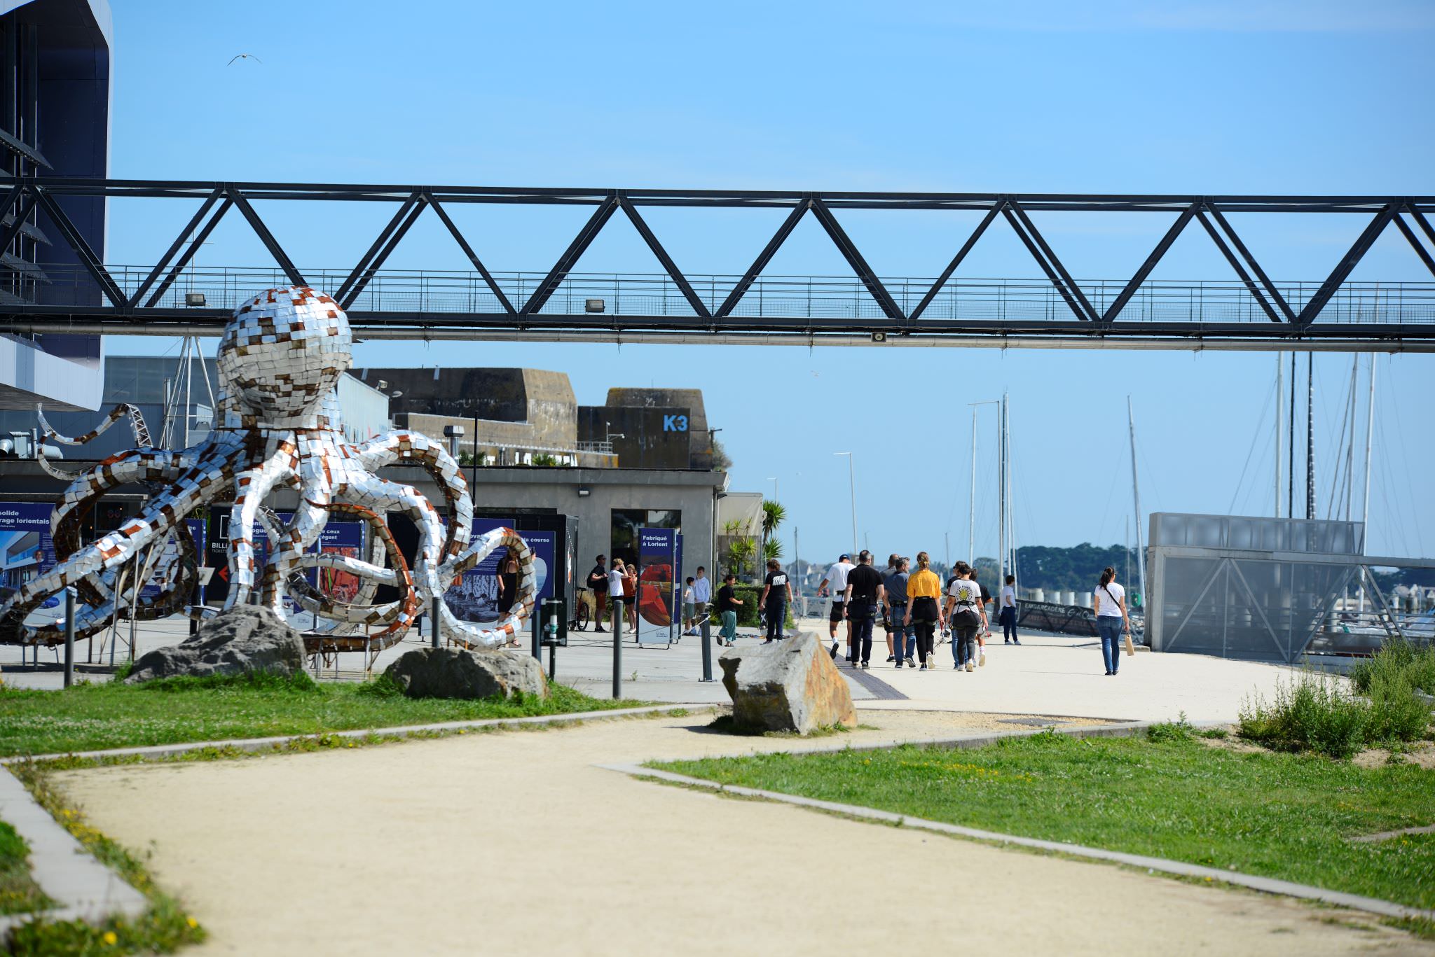
[[[220,379],[250,415],[301,426],[353,363],[349,319],[331,297],[306,286],[245,300],[220,340]]]

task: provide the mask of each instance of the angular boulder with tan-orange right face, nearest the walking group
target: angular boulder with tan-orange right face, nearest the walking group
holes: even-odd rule
[[[740,730],[795,730],[857,725],[847,682],[822,643],[811,634],[732,649],[718,659]]]

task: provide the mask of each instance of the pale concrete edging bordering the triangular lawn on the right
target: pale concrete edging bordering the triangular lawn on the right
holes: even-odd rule
[[[1089,727],[1071,727],[1071,729],[1056,729],[1058,735],[1072,735],[1073,737],[1131,737],[1147,727],[1152,722],[1134,722],[1128,725],[1106,725],[1106,726],[1089,726]],[[888,750],[891,748],[900,748],[901,745],[940,745],[960,749],[982,748],[984,745],[996,743],[1006,737],[1030,737],[1032,735],[1046,733],[1042,732],[1010,732],[999,735],[980,735],[971,737],[957,737],[949,740],[903,740],[891,743],[875,743],[852,748],[852,750]],[[844,746],[835,748],[818,748],[818,749],[804,749],[802,755],[812,753],[829,753],[845,750]],[[683,760],[682,758],[664,759],[664,760]],[[693,759],[697,760],[697,759]],[[1293,881],[1280,881],[1276,878],[1260,877],[1256,874],[1243,874],[1238,871],[1221,871],[1217,868],[1201,867],[1198,864],[1187,864],[1184,861],[1170,861],[1165,858],[1145,857],[1141,854],[1125,854],[1121,851],[1108,851],[1105,848],[1092,848],[1081,844],[1063,844],[1060,841],[1043,841],[1039,838],[1025,838],[1015,834],[1000,834],[996,831],[983,831],[980,828],[964,828],[956,824],[946,824],[943,821],[928,821],[927,818],[914,818],[910,815],[895,814],[891,811],[880,811],[877,808],[865,808],[861,805],[838,803],[834,801],[818,801],[815,798],[802,798],[799,795],[788,795],[776,791],[762,791],[759,788],[743,788],[739,785],[723,785],[716,781],[706,781],[703,778],[689,778],[687,775],[676,775],[669,770],[659,770],[656,768],[646,768],[640,763],[618,763],[618,765],[598,765],[604,770],[616,770],[618,773],[630,775],[633,778],[647,778],[653,781],[662,781],[673,785],[683,785],[689,788],[700,788],[703,791],[713,791],[718,793],[729,793],[742,798],[761,798],[763,801],[773,801],[779,803],[789,803],[799,808],[808,808],[812,811],[827,811],[831,814],[841,814],[851,818],[858,818],[862,821],[875,821],[880,824],[895,825],[901,828],[916,828],[920,831],[931,831],[936,834],[954,835],[961,838],[971,838],[976,841],[990,841],[994,844],[1012,844],[1023,848],[1032,848],[1036,851],[1048,851],[1055,854],[1066,854],[1078,858],[1088,858],[1092,861],[1104,861],[1108,864],[1125,864],[1134,868],[1145,868],[1147,871],[1157,871],[1161,874],[1172,874],[1178,877],[1192,877],[1203,878],[1208,881],[1221,881],[1224,884],[1234,884],[1237,887],[1244,887],[1253,891],[1261,891],[1266,894],[1281,894],[1284,897],[1294,897],[1307,901],[1320,901],[1325,904],[1333,904],[1336,907],[1347,907],[1350,910],[1368,911],[1370,914],[1379,914],[1382,917],[1395,918],[1424,918],[1435,920],[1435,910],[1426,911],[1416,907],[1406,907],[1405,904],[1395,904],[1393,901],[1382,901],[1375,897],[1362,897],[1359,894],[1346,894],[1342,891],[1330,891],[1320,887],[1312,887],[1309,884],[1296,884]]]

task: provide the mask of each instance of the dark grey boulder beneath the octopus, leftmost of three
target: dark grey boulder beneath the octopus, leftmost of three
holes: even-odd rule
[[[221,611],[181,641],[145,654],[131,669],[131,684],[156,677],[270,671],[284,677],[304,669],[304,638],[263,605]]]

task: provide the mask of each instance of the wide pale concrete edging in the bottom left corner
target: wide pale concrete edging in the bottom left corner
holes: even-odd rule
[[[30,845],[34,882],[59,904],[33,914],[0,917],[0,940],[34,920],[99,923],[115,914],[138,917],[149,907],[144,894],[96,861],[9,770],[0,770],[0,819]]]

